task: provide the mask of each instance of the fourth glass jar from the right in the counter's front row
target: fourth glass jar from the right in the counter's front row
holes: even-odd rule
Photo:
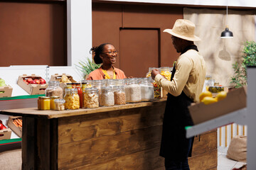
[[[100,106],[114,106],[114,92],[112,86],[101,87]]]

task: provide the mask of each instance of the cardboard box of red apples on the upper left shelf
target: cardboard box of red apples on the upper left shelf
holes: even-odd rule
[[[21,86],[28,94],[45,94],[45,90],[48,87],[48,84],[26,84],[23,79],[41,79],[42,77],[36,76],[35,74],[31,74],[31,76],[27,76],[23,74],[18,77],[18,86]]]

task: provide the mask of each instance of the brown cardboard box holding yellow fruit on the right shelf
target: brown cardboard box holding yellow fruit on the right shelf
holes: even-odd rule
[[[188,107],[193,123],[206,122],[221,115],[232,113],[246,107],[246,86],[230,91],[222,101],[205,105],[204,103],[194,104]]]

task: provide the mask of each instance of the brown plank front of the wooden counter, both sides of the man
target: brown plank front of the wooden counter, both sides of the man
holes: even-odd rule
[[[164,105],[59,118],[58,169],[164,169]],[[192,170],[216,169],[216,130],[195,137],[192,154]]]

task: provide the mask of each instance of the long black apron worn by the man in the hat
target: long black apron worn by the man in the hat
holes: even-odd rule
[[[186,51],[189,49],[193,48],[189,47]],[[171,81],[174,78],[175,72],[176,69],[174,65]],[[192,102],[191,98],[188,98],[183,91],[180,96],[168,94],[161,137],[161,157],[177,162],[181,162],[187,159],[187,157],[191,157],[193,137],[191,149],[188,154],[188,139],[186,138],[185,127],[193,125],[191,115],[188,111],[188,106],[190,106]]]

